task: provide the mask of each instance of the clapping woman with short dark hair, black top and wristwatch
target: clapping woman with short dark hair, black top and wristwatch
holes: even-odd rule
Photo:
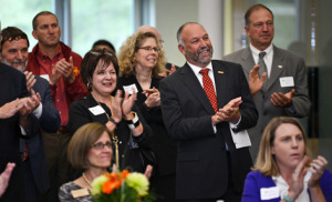
[[[117,73],[114,53],[105,49],[93,49],[84,55],[81,77],[91,94],[71,104],[68,129],[73,134],[86,123],[98,122],[106,125],[110,131],[114,131],[112,141],[115,142],[115,162],[120,170],[144,172],[146,165],[142,165],[139,153],[134,150],[149,148],[152,130],[135,105],[136,93],[129,95],[126,92],[122,98],[122,91],[116,91]],[[79,175],[81,172],[75,171],[72,179]]]

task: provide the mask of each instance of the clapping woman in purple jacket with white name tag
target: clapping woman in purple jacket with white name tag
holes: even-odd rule
[[[304,130],[293,118],[274,118],[267,125],[242,202],[332,201],[332,174],[323,156],[310,160]]]

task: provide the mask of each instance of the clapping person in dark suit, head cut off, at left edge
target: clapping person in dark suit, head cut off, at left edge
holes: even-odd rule
[[[0,172],[15,163],[1,202],[24,201],[19,138],[35,134],[38,119],[31,112],[40,104],[38,95],[28,95],[24,74],[0,62]]]

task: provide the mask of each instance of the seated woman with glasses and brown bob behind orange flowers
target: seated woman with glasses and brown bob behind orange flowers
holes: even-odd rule
[[[112,154],[111,132],[105,125],[87,123],[81,127],[69,143],[68,158],[74,168],[85,169],[85,172],[60,188],[60,201],[92,201],[91,182],[107,172]]]

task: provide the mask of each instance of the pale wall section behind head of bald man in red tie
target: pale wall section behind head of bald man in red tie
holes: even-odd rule
[[[201,23],[210,36],[214,59],[222,58],[222,0],[155,0],[156,28],[165,43],[168,62],[181,67],[176,32],[185,22]]]

